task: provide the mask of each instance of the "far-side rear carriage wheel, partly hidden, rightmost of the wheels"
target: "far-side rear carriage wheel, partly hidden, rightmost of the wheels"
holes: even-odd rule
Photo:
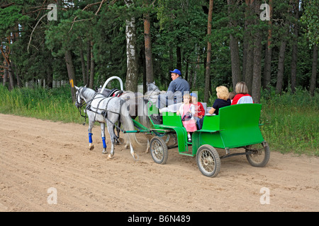
[[[257,143],[249,145],[246,148],[246,152],[250,151],[252,154],[246,155],[248,162],[253,167],[264,167],[267,165],[270,158],[270,149],[268,143]]]

